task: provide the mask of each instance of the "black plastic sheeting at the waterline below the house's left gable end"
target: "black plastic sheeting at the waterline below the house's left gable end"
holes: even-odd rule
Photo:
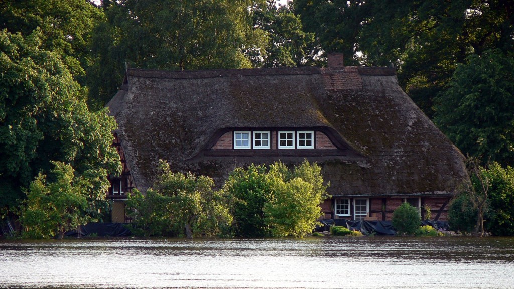
[[[69,231],[65,237],[128,237],[131,236],[124,223],[89,223],[80,225],[77,230]]]

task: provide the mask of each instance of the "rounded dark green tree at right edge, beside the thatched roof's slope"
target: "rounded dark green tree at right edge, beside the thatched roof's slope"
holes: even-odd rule
[[[514,161],[514,58],[500,50],[472,55],[437,96],[434,122],[482,164]]]

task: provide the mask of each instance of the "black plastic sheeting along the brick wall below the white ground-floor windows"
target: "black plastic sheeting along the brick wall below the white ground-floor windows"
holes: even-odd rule
[[[348,221],[344,219],[332,219],[332,220],[323,220],[321,221],[323,224],[322,227],[319,227],[318,230],[329,231],[330,226],[342,226],[346,227],[349,230],[360,231],[365,235],[375,234],[376,236],[394,236],[396,235],[396,230],[393,227],[391,221]],[[423,221],[421,222],[422,226],[430,225],[435,229],[449,230],[450,226],[447,221]]]

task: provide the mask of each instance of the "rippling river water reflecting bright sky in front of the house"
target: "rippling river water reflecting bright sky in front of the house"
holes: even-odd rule
[[[0,287],[514,288],[514,239],[7,240]]]

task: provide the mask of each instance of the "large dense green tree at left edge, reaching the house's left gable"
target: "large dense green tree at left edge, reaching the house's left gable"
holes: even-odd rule
[[[88,211],[99,219],[107,175],[121,170],[111,147],[116,123],[106,110],[88,111],[85,89],[44,40],[39,29],[27,37],[0,31],[0,208],[13,209],[22,187],[63,161],[90,180]]]

